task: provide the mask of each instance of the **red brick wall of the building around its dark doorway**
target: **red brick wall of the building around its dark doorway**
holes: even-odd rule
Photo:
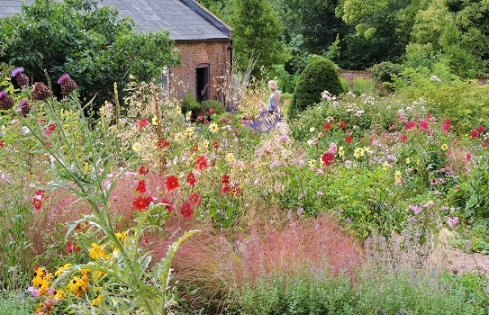
[[[177,41],[182,62],[180,66],[172,67],[171,96],[184,97],[188,92],[195,95],[195,67],[199,64],[210,65],[210,98],[217,98],[217,87],[231,67],[231,40],[214,41]]]

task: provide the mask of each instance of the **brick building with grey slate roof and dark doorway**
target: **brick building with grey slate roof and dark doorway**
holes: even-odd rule
[[[27,4],[33,0],[28,0]],[[167,30],[181,52],[181,65],[162,76],[172,97],[187,93],[199,100],[215,99],[216,85],[231,69],[231,27],[195,0],[103,0],[121,17],[129,16],[137,31]],[[20,0],[0,1],[0,18],[21,11]],[[164,70],[165,69],[165,70]]]

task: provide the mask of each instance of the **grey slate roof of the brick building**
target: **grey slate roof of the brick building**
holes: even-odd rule
[[[27,1],[31,3],[32,0]],[[21,11],[21,0],[0,0],[0,18]],[[130,16],[137,31],[168,30],[173,40],[227,40],[231,27],[195,0],[102,0]]]

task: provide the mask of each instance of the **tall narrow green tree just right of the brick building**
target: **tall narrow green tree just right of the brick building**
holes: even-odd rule
[[[258,57],[253,75],[259,77],[261,67],[267,70],[284,62],[283,26],[268,0],[234,0],[231,25],[233,47],[240,67],[246,67],[252,56]]]

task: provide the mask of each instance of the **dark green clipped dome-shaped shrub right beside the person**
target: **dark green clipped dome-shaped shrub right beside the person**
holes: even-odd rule
[[[321,93],[328,91],[333,95],[343,92],[340,77],[335,65],[326,58],[311,58],[297,80],[294,90],[294,103],[290,117],[303,112],[305,108],[321,101]]]

